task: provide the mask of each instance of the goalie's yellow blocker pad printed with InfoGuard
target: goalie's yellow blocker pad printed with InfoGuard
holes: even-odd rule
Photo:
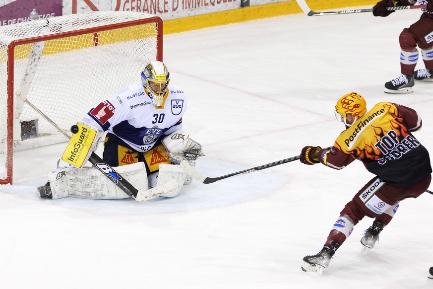
[[[82,123],[77,123],[77,126],[78,133],[72,134],[63,152],[62,160],[81,168],[96,149],[102,134]]]

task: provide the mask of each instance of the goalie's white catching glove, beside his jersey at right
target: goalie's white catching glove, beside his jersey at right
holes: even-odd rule
[[[167,149],[168,156],[172,163],[180,164],[182,160],[187,160],[190,164],[204,156],[201,144],[191,140],[183,130],[177,130],[173,134],[166,136],[162,144]]]

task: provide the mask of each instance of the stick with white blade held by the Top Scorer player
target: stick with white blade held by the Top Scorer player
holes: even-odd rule
[[[331,147],[332,146],[325,147],[325,149],[330,149]],[[282,159],[282,160],[279,160],[279,161],[267,163],[267,164],[264,164],[264,165],[252,167],[252,168],[249,168],[249,169],[246,169],[246,170],[243,170],[243,171],[239,171],[239,172],[235,172],[235,173],[231,173],[231,174],[228,174],[228,175],[224,175],[224,176],[221,176],[221,177],[215,177],[215,178],[203,176],[202,174],[200,174],[199,172],[197,172],[195,170],[195,168],[193,166],[191,166],[189,164],[189,162],[186,161],[186,160],[182,160],[181,161],[181,167],[184,169],[184,171],[188,175],[190,175],[195,180],[197,180],[197,181],[199,181],[199,182],[201,182],[203,184],[210,184],[210,183],[215,183],[216,181],[220,181],[220,180],[223,180],[223,179],[227,179],[227,178],[231,178],[231,177],[235,177],[235,176],[239,176],[239,175],[245,175],[245,174],[252,173],[252,172],[255,172],[255,171],[259,171],[259,170],[267,169],[267,168],[270,168],[270,167],[273,167],[273,166],[277,166],[277,165],[280,165],[280,164],[283,164],[283,163],[288,163],[288,162],[291,162],[291,161],[294,161],[294,160],[298,160],[298,159],[301,158],[301,156],[302,155],[292,156],[292,157],[285,158],[285,159]]]

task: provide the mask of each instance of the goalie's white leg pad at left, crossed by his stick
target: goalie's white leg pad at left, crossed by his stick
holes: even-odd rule
[[[113,167],[138,190],[147,190],[147,175],[143,162]],[[115,183],[96,167],[63,167],[49,175],[53,199],[75,197],[85,199],[129,198]]]

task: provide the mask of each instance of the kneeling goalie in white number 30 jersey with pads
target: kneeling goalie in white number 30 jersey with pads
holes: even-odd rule
[[[117,178],[138,190],[161,187],[160,196],[177,196],[192,180],[180,161],[194,165],[204,155],[201,145],[182,129],[185,111],[185,94],[170,84],[165,64],[148,63],[140,83],[99,103],[71,127],[73,135],[62,156],[69,164],[49,174],[47,184],[38,188],[39,196],[129,198],[115,185]],[[105,163],[84,166],[105,133]],[[175,186],[164,186],[168,182]]]

